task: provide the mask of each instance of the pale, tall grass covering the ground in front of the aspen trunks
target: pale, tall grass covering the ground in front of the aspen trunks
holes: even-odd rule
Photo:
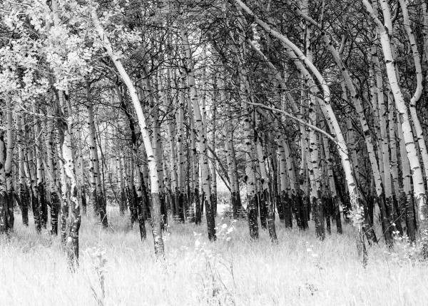
[[[146,225],[148,239],[141,242],[138,225],[129,230],[128,218],[111,210],[108,230],[82,218],[80,267],[71,273],[59,238],[46,230],[36,234],[33,224],[25,228],[20,218],[16,215],[14,233],[0,240],[0,305],[428,303],[428,265],[410,260],[412,250],[403,244],[388,254],[381,243],[368,248],[363,268],[351,225],[345,225],[343,235],[332,228],[334,233],[320,242],[313,226],[302,232],[278,222],[279,244],[271,245],[267,230],[250,242],[245,220],[218,219],[216,243],[208,243],[205,223],[171,222],[165,234],[166,261],[160,263],[150,227]]]

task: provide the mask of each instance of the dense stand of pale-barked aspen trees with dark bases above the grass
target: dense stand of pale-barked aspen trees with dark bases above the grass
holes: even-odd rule
[[[4,0],[5,249],[46,234],[78,271],[85,226],[138,225],[168,262],[192,225],[423,262],[427,72],[424,0]]]

